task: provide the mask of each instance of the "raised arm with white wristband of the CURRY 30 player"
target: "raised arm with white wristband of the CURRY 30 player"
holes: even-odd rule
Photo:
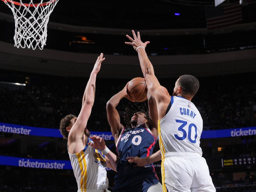
[[[164,113],[165,113],[164,109],[166,109],[168,104],[170,103],[171,96],[169,95],[169,92],[167,91],[167,89],[160,85],[159,81],[155,76],[153,65],[148,59],[145,48],[147,44],[149,44],[149,41],[146,41],[145,43],[143,43],[140,40],[140,32],[138,32],[138,37],[136,36],[133,30],[132,30],[132,34],[134,39],[126,35],[128,39],[130,39],[132,42],[125,42],[125,44],[132,45],[132,47],[138,52],[140,67],[141,67],[143,76],[147,82],[148,90],[156,99],[158,117],[160,119],[164,116]]]

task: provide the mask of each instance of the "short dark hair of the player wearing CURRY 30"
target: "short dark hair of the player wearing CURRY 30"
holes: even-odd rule
[[[183,94],[194,96],[199,89],[199,81],[192,75],[182,75],[179,77],[179,85]]]

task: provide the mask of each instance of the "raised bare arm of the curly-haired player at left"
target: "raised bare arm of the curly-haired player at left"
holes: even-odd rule
[[[76,119],[76,123],[73,125],[68,134],[69,148],[71,147],[71,142],[76,142],[77,140],[80,141],[83,136],[84,129],[89,116],[91,115],[92,106],[94,103],[96,76],[100,71],[101,62],[104,60],[105,58],[103,58],[103,53],[101,53],[95,62],[94,68],[92,69],[92,73],[84,91],[81,111]]]

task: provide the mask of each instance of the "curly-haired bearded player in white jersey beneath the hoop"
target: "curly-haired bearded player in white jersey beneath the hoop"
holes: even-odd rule
[[[114,170],[114,167],[116,167],[116,156],[113,155],[112,158],[110,153],[105,156],[101,151],[89,145],[93,141],[88,138],[90,132],[86,128],[94,103],[96,75],[100,71],[103,60],[105,58],[103,58],[101,53],[86,85],[82,108],[78,117],[70,114],[60,121],[60,132],[64,139],[68,140],[68,155],[79,192],[107,192],[108,178],[106,166]],[[114,166],[111,164],[112,160],[114,160]]]

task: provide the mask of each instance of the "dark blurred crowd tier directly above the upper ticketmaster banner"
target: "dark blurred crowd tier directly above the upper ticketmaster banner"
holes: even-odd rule
[[[192,102],[204,120],[204,130],[255,126],[256,83],[246,74],[199,78],[200,88]],[[60,119],[68,114],[78,115],[87,83],[86,78],[31,78],[26,87],[12,89],[0,85],[0,122],[35,127],[59,128]],[[129,80],[97,79],[92,114],[87,124],[91,131],[110,131],[106,103],[121,91]],[[176,79],[160,79],[169,93]],[[126,107],[134,103],[122,99],[117,109],[123,116]],[[123,123],[123,118],[121,118]]]

